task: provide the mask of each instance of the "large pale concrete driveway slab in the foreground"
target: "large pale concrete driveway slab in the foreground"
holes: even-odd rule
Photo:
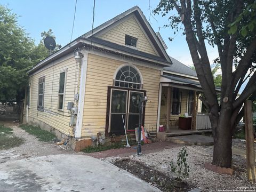
[[[85,155],[51,155],[0,164],[1,191],[160,191]]]

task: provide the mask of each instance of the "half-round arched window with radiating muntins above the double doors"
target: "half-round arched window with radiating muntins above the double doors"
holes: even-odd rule
[[[141,89],[140,74],[132,66],[124,66],[116,74],[115,86]]]

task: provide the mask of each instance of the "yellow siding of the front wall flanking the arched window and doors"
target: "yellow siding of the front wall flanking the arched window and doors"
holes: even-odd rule
[[[99,55],[88,55],[82,137],[90,137],[97,135],[98,132],[105,132],[108,86],[113,86],[114,73],[123,63]],[[156,130],[158,86],[161,71],[149,67],[137,67],[143,77],[143,90],[146,90],[148,95],[145,127]]]

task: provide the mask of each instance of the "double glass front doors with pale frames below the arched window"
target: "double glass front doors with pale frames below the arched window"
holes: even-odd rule
[[[109,94],[108,133],[124,134],[124,126],[127,131],[134,131],[139,126],[139,106],[132,97],[143,97],[145,92],[113,88]]]

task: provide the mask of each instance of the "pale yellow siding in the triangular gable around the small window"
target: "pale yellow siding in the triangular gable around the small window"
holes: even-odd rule
[[[113,29],[110,29],[107,33],[99,36],[99,38],[119,45],[125,45],[125,35],[138,38],[137,49],[139,51],[157,55],[134,17],[131,17]]]

